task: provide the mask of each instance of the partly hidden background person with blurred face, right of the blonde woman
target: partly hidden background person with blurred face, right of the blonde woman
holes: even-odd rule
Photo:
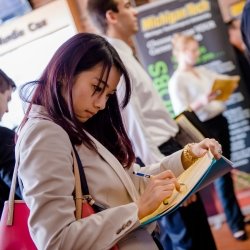
[[[241,80],[250,94],[250,61],[246,51],[246,46],[243,42],[241,30],[240,30],[240,19],[232,19],[227,22],[229,41],[233,46],[236,60],[239,66]]]

